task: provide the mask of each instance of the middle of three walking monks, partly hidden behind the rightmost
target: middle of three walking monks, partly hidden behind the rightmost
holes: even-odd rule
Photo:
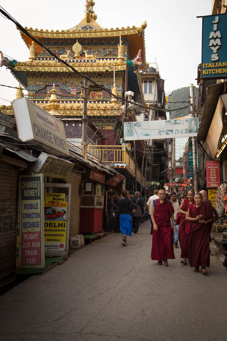
[[[187,224],[187,221],[185,220],[185,216],[187,214],[187,210],[189,205],[194,204],[194,195],[195,191],[190,190],[187,193],[187,199],[184,199],[179,207],[178,212],[181,213],[180,217],[180,228],[179,228],[179,241],[181,246],[181,264],[186,265],[187,264],[187,258],[188,258],[188,234],[185,232],[185,227]]]

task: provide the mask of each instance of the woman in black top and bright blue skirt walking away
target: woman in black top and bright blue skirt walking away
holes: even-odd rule
[[[119,200],[120,229],[123,237],[121,244],[126,246],[127,235],[132,236],[131,206],[134,207],[134,212],[137,206],[131,201],[126,190],[121,192],[121,197],[122,199]]]

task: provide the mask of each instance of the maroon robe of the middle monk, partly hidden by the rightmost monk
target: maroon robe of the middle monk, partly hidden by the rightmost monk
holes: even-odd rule
[[[182,211],[187,212],[189,206],[189,199],[184,199]],[[187,221],[185,214],[181,214],[180,227],[179,227],[179,242],[181,247],[181,258],[188,258],[188,234],[185,232]]]

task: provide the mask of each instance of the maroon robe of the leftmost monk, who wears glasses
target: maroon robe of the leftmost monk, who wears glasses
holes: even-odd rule
[[[172,204],[169,204],[167,199],[163,203],[157,199],[154,220],[158,226],[158,231],[153,230],[151,248],[151,259],[153,260],[162,261],[175,258],[172,245],[173,229],[170,224],[170,214],[173,212]]]

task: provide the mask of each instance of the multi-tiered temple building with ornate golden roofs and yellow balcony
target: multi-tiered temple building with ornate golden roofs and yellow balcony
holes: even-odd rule
[[[134,152],[120,144],[123,138],[122,121],[136,119],[135,110],[127,114],[122,108],[124,93],[133,91],[133,100],[145,105],[139,71],[148,66],[144,36],[147,23],[145,21],[140,27],[102,28],[96,22],[93,6],[92,0],[86,0],[85,18],[66,30],[54,32],[26,27],[41,45],[19,31],[30,49],[29,60],[12,62],[1,55],[1,64],[6,65],[20,85],[28,90],[31,101],[63,120],[66,137],[70,138],[71,143],[77,144],[81,138],[78,136],[78,119],[82,118],[84,105],[83,76],[88,76],[88,123],[93,124],[100,133],[99,141],[95,143],[93,139],[88,146],[89,153],[101,163],[123,173],[127,188],[136,185],[139,189],[148,187],[141,170],[145,143],[135,143],[137,166]],[[62,64],[45,47],[69,66]],[[138,63],[128,67],[127,60],[136,60]],[[1,106],[1,111],[13,115],[11,106]],[[88,144],[89,140],[90,137]]]

